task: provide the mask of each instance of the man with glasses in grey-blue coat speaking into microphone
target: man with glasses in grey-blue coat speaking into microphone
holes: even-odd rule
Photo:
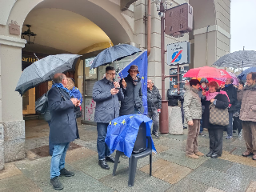
[[[113,162],[114,157],[110,155],[110,148],[106,145],[105,138],[107,126],[119,117],[119,102],[123,100],[122,90],[119,83],[114,82],[116,72],[113,66],[106,67],[106,77],[95,82],[93,88],[93,99],[96,102],[94,122],[97,122],[97,150],[98,165],[102,169],[109,170],[106,162]]]

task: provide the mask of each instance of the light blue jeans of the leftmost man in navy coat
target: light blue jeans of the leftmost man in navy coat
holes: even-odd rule
[[[50,162],[50,178],[58,177],[59,171],[65,167],[66,151],[69,145],[69,142],[54,145],[54,153]]]

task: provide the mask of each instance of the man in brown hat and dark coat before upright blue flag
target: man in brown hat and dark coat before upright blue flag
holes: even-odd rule
[[[144,107],[142,103],[142,82],[139,74],[138,66],[130,66],[128,76],[120,81],[120,86],[124,94],[121,102],[120,116],[127,114],[143,114]]]

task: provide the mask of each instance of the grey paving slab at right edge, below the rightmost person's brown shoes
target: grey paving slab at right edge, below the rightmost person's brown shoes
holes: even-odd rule
[[[231,166],[226,173],[242,178],[248,178],[250,180],[256,180],[256,168],[251,166],[234,163],[234,165]]]

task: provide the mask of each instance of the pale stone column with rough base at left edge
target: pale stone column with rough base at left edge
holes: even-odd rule
[[[4,162],[26,156],[22,97],[14,91],[22,74],[25,43],[20,38],[0,35],[0,170]]]

